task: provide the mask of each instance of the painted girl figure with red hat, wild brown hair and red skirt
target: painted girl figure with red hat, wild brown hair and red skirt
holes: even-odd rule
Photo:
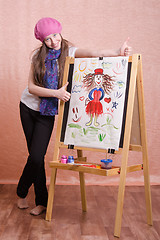
[[[109,94],[113,89],[114,79],[108,74],[103,74],[102,68],[97,68],[94,73],[87,74],[83,79],[84,87],[89,91],[89,101],[86,106],[86,113],[90,116],[90,121],[86,126],[90,126],[94,119],[94,125],[97,127],[99,123],[97,118],[103,113],[103,106],[101,100],[105,93]]]

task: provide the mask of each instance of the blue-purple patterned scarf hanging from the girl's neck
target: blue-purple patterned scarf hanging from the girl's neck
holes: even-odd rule
[[[49,89],[58,88],[58,58],[61,54],[61,49],[49,49],[49,53],[45,59],[45,75],[44,87]],[[58,114],[58,98],[42,97],[40,102],[40,114],[46,116],[54,116]]]

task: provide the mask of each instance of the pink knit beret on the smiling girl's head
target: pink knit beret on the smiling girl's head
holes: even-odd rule
[[[61,33],[62,26],[60,22],[53,18],[41,18],[35,28],[34,35],[41,42],[52,33]]]

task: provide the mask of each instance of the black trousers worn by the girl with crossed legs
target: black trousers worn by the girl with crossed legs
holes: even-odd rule
[[[36,206],[47,206],[48,192],[44,156],[54,126],[55,116],[42,116],[20,102],[20,116],[27,141],[29,156],[20,177],[17,195],[25,198],[34,184]]]

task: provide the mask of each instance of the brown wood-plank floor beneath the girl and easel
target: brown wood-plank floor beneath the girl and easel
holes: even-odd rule
[[[81,210],[79,186],[56,186],[52,221],[45,213],[34,217],[30,208],[16,206],[16,185],[0,185],[0,240],[112,240],[116,213],[116,186],[87,186],[87,213]],[[151,187],[153,226],[146,223],[144,187],[126,187],[121,240],[160,239],[160,186]]]

